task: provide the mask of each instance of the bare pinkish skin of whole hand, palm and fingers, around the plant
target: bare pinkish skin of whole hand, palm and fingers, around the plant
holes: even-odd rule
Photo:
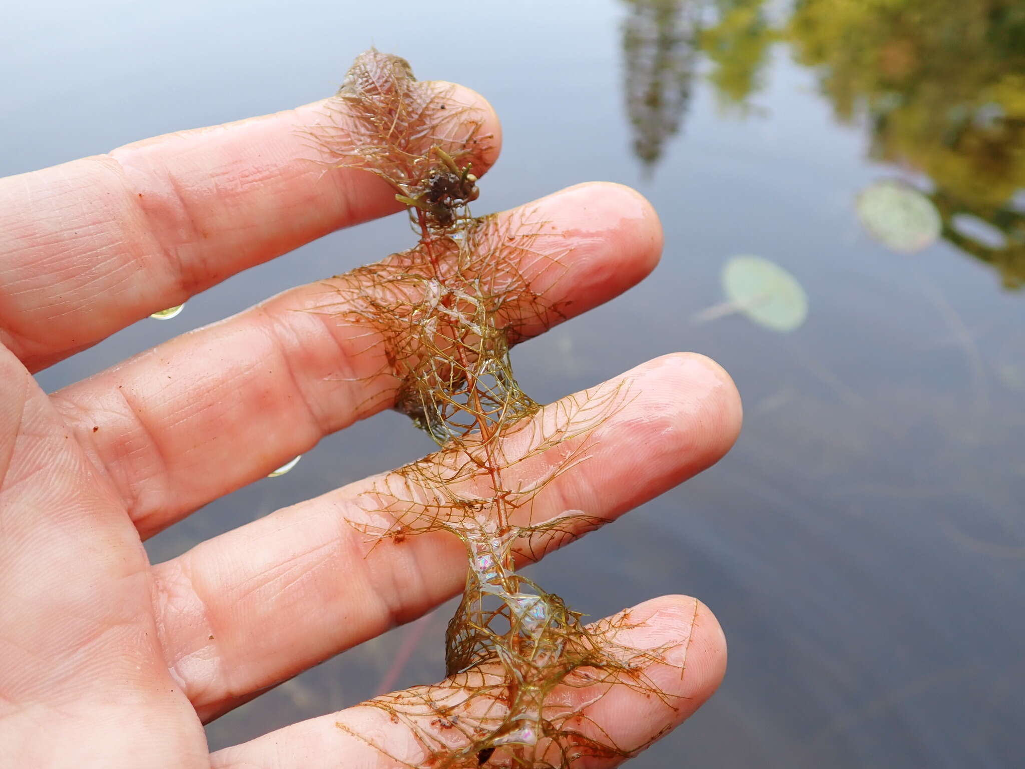
[[[456,93],[486,111],[497,137],[487,104]],[[202,725],[456,595],[466,569],[458,540],[435,533],[371,551],[347,523],[368,480],[166,563],[151,564],[141,545],[387,406],[386,393],[368,398],[386,385],[361,371],[363,330],[295,312],[316,306],[323,285],[286,291],[56,393],[32,375],[235,273],[398,210],[379,178],[309,162],[301,129],[320,112],[312,105],[168,134],[0,179],[4,765],[394,765],[354,731],[416,761],[404,727],[369,709],[213,754]],[[562,278],[538,286],[567,316],[614,297],[658,260],[658,219],[625,188],[580,186],[534,205],[569,239],[552,254],[565,262]],[[523,320],[534,333],[557,318]],[[573,508],[611,521],[715,462],[735,440],[739,398],[706,358],[669,355],[623,376],[640,395],[601,426],[590,459],[538,497],[540,514]],[[723,633],[695,599],[663,596],[630,612],[636,626],[623,640],[675,644],[669,661],[685,674],[671,664],[649,672],[680,697],[674,710],[625,690],[596,705],[594,720],[624,745],[685,720],[726,667]]]

